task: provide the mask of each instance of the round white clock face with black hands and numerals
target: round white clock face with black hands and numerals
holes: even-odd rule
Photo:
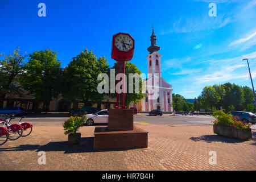
[[[119,51],[130,51],[133,48],[133,40],[128,35],[118,35],[115,38],[115,47],[119,49]]]

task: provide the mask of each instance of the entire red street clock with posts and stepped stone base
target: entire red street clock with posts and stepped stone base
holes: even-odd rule
[[[134,39],[125,33],[118,33],[112,40],[112,59],[118,61],[117,73],[125,74],[125,61],[133,58]],[[119,82],[119,81],[118,81]],[[115,109],[108,109],[107,127],[94,130],[94,150],[113,150],[147,147],[148,132],[133,125],[133,110],[125,106],[125,77],[122,79],[122,102],[119,106],[119,92]],[[119,90],[117,90],[119,91]]]

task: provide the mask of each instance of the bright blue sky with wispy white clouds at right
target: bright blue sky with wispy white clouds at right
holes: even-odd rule
[[[38,16],[41,2],[46,17]],[[217,16],[210,17],[212,2]],[[143,73],[154,24],[162,77],[173,93],[195,98],[204,86],[225,82],[251,88],[244,58],[255,83],[256,0],[0,0],[0,22],[0,53],[12,53],[17,46],[26,53],[51,48],[61,67],[85,48],[112,66],[112,36],[128,33],[135,39],[131,62]]]

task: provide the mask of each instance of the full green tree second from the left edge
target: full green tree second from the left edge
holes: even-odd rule
[[[51,49],[29,54],[20,80],[22,87],[28,90],[29,94],[44,103],[46,111],[52,97],[57,97],[60,92],[61,63],[56,55],[57,52]]]

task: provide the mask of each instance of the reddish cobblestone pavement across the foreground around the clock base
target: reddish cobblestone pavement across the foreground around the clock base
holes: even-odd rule
[[[80,129],[79,145],[69,146],[61,126],[35,126],[28,137],[0,146],[0,170],[256,170],[256,130],[248,141],[225,138],[213,127],[139,126],[148,148],[93,151],[94,126]],[[38,164],[46,152],[46,164]],[[216,164],[209,164],[216,151]]]

